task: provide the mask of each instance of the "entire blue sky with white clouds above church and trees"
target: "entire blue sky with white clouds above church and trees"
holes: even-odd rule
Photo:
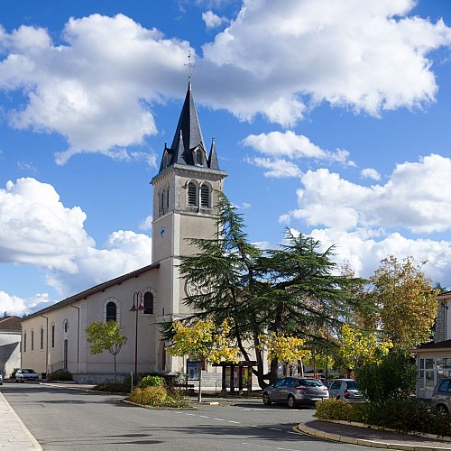
[[[450,51],[449,0],[3,0],[0,312],[151,262],[189,52],[253,243],[290,227],[451,286]]]

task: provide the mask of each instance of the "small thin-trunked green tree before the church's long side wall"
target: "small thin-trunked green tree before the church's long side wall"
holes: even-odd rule
[[[104,351],[113,355],[115,362],[116,381],[116,355],[121,351],[122,346],[126,343],[127,337],[121,335],[121,328],[116,321],[99,321],[91,323],[86,329],[87,343],[91,343],[89,349],[91,354],[101,354]]]

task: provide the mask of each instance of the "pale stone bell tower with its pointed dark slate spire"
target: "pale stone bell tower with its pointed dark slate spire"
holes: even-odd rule
[[[160,263],[162,315],[189,314],[183,304],[189,287],[179,276],[180,256],[197,252],[189,238],[216,235],[216,191],[227,174],[219,169],[215,139],[206,152],[189,82],[170,147],[165,144],[160,170],[153,177],[152,262]]]

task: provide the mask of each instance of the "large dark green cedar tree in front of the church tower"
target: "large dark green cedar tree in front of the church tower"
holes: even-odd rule
[[[354,278],[336,275],[333,248],[320,250],[318,241],[287,232],[280,249],[263,252],[247,241],[243,217],[226,196],[217,193],[217,233],[212,239],[191,239],[198,253],[181,258],[180,273],[198,288],[186,303],[196,318],[212,314],[219,325],[233,318],[231,331],[244,360],[252,360],[261,387],[277,380],[278,358],[265,373],[262,335],[299,336],[321,347],[325,327],[339,327],[343,315],[357,308]]]

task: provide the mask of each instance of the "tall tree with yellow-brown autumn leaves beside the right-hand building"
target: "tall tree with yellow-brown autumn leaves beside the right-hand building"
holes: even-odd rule
[[[390,255],[370,278],[370,296],[379,308],[377,327],[395,350],[408,351],[431,336],[437,315],[437,290],[421,271],[423,265],[415,264],[412,257],[399,262]]]

